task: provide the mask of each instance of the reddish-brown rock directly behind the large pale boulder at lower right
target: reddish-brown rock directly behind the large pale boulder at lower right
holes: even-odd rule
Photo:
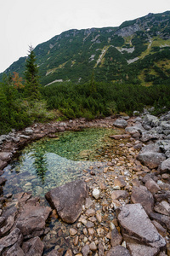
[[[144,186],[133,187],[131,201],[136,204],[140,203],[144,210],[148,212],[153,211],[154,207],[154,198],[148,189]]]

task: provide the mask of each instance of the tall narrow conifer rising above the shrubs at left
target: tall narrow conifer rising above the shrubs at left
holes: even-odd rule
[[[29,46],[29,55],[26,59],[26,97],[31,101],[39,100],[41,98],[40,94],[40,84],[38,77],[38,67],[36,64],[36,55],[33,51],[32,46]]]

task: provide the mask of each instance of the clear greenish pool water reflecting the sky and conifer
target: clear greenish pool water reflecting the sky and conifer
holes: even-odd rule
[[[93,168],[101,172],[105,147],[113,142],[109,135],[121,133],[112,129],[65,131],[56,138],[43,138],[20,151],[18,159],[5,168],[7,182],[3,194],[31,191],[43,196],[49,189],[82,177]]]

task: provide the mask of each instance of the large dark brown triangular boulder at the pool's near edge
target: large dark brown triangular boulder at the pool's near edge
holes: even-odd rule
[[[82,205],[88,197],[88,187],[83,181],[76,180],[51,189],[45,197],[56,209],[59,217],[66,223],[72,224],[82,212]]]

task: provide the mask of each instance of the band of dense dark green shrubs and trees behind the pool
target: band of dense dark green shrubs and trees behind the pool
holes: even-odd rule
[[[29,62],[30,60],[30,62]],[[94,73],[88,83],[55,83],[41,86],[32,51],[32,60],[26,63],[26,78],[18,73],[4,76],[0,84],[0,134],[11,129],[20,130],[35,122],[53,119],[95,119],[115,114],[132,115],[144,108],[155,107],[154,114],[170,108],[169,84],[141,84],[96,82]],[[35,67],[34,80],[29,73]],[[29,70],[30,68],[30,70]]]

